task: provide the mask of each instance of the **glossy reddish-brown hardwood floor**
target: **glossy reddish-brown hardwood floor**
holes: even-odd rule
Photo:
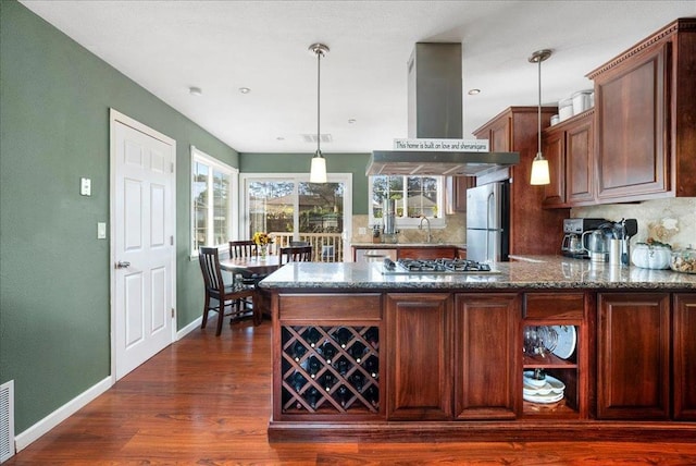
[[[3,464],[696,464],[696,443],[269,444],[271,324],[214,333],[191,332]]]

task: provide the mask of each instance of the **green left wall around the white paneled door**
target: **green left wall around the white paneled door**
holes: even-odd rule
[[[177,312],[200,316],[189,260],[189,146],[235,150],[13,0],[0,0],[0,383],[15,432],[110,373],[109,108],[176,139]],[[90,177],[91,197],[79,195]]]

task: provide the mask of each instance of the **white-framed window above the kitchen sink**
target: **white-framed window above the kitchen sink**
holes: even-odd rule
[[[396,200],[396,226],[417,228],[421,216],[445,226],[443,176],[370,176],[370,224],[382,224],[385,199]]]

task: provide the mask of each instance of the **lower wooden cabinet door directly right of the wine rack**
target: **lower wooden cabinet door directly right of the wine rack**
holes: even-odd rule
[[[387,295],[387,418],[450,419],[451,296]]]

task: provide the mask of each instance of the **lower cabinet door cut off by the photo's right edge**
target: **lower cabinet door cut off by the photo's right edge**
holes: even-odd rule
[[[674,419],[696,420],[696,294],[674,297]]]

